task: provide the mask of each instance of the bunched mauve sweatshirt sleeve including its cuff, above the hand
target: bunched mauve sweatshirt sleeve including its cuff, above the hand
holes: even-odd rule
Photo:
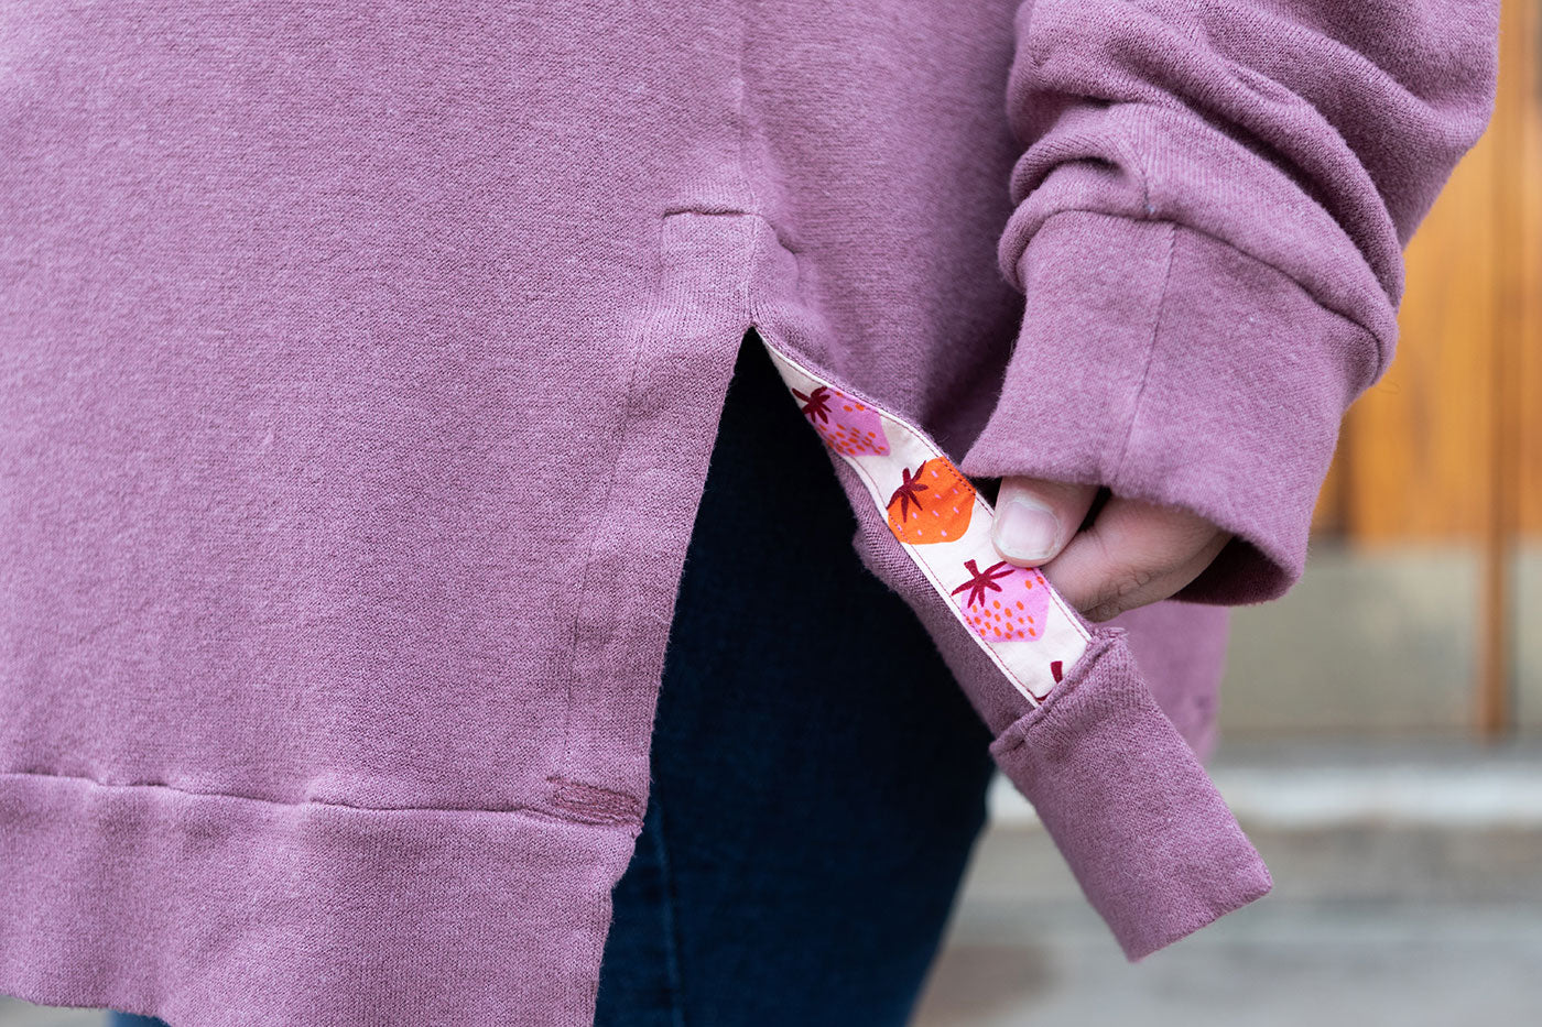
[[[1493,114],[1499,0],[1029,0],[1015,31],[1024,319],[959,467],[1187,507],[1235,538],[1177,598],[1274,598]]]

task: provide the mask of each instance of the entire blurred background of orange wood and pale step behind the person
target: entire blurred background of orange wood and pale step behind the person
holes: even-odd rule
[[[1542,1024],[1542,0],[1500,48],[1306,575],[1234,614],[1210,769],[1275,890],[1127,965],[998,780],[917,1027]]]

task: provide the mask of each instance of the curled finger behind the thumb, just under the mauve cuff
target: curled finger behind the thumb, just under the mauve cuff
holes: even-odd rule
[[[1042,571],[1066,601],[1101,621],[1169,598],[1229,540],[1198,514],[1112,497]]]

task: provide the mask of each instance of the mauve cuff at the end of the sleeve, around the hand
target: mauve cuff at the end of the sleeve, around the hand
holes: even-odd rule
[[[1281,595],[1343,413],[1375,372],[1369,332],[1175,222],[1061,211],[1018,270],[1022,330],[962,472],[1186,507],[1237,538],[1178,598]]]

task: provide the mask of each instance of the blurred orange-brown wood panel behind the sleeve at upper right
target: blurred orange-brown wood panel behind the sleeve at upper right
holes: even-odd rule
[[[1505,6],[1494,117],[1408,245],[1397,353],[1349,410],[1318,530],[1542,537],[1539,9]]]

